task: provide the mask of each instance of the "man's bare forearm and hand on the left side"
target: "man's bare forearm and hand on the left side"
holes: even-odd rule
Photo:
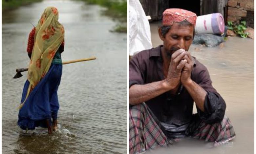
[[[133,85],[129,88],[129,104],[139,103],[155,98],[167,91],[175,94],[181,80],[181,70],[187,63],[186,51],[179,49],[172,54],[166,79],[144,85]]]

